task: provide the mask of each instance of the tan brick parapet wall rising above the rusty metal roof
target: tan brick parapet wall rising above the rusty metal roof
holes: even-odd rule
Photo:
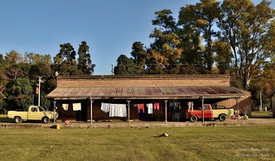
[[[130,78],[58,78],[57,87],[169,87],[169,86],[230,86],[228,75],[162,75]]]

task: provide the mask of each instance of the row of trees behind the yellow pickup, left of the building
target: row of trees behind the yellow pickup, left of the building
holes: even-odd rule
[[[78,52],[70,43],[60,45],[61,49],[54,56],[11,51],[0,54],[0,111],[3,109],[24,109],[32,104],[38,105],[39,76],[41,83],[41,105],[52,107],[51,101],[45,96],[56,87],[56,76],[60,75],[91,75],[94,64],[91,63],[89,45],[81,42]],[[32,99],[32,97],[34,99]]]

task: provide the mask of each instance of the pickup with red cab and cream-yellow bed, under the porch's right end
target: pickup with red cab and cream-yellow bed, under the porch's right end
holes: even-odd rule
[[[203,105],[203,117],[204,118],[214,118],[219,119],[220,121],[224,121],[226,116],[233,116],[234,109],[228,109],[226,107],[219,107],[219,109],[212,109],[210,104]],[[190,122],[196,122],[198,119],[202,118],[202,110],[201,107],[199,109],[188,109],[187,118]]]

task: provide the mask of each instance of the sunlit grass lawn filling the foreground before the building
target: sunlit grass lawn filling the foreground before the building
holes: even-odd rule
[[[274,160],[275,127],[0,129],[0,160]],[[168,133],[168,137],[157,137]]]

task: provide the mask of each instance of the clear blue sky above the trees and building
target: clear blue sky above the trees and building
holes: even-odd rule
[[[120,54],[131,56],[135,41],[153,42],[155,12],[179,9],[198,0],[1,0],[0,53],[15,50],[50,54],[71,43],[76,52],[81,41],[89,45],[94,75],[111,74]],[[254,3],[259,3],[255,0]],[[274,3],[272,3],[274,8]]]

